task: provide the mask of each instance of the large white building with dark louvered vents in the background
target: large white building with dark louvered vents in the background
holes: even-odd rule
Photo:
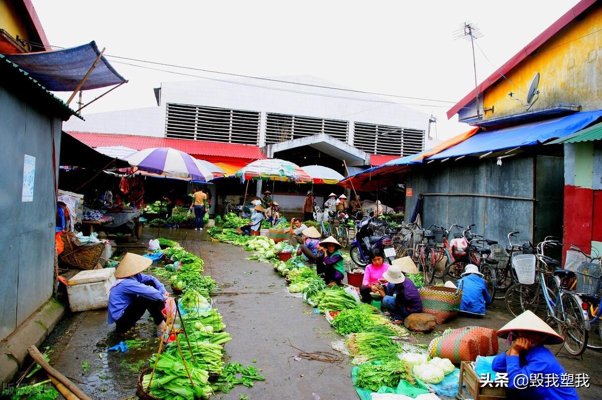
[[[340,86],[314,76],[270,79],[305,85],[258,79],[165,82],[155,88],[157,107],[86,114],[85,122],[72,118],[64,129],[250,144],[267,156],[278,156],[270,150],[275,144],[325,134],[346,144],[329,140],[330,147],[355,147],[355,156],[335,157],[359,168],[379,164],[370,155],[393,158],[424,150],[429,115],[423,112],[382,97],[322,88]],[[329,153],[328,147],[313,147]]]

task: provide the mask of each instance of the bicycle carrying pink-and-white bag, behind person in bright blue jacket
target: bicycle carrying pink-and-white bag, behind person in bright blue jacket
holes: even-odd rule
[[[462,231],[462,238],[464,239],[466,247],[461,248],[456,246],[456,244],[450,243],[451,251],[448,253],[448,262],[443,271],[442,278],[445,279],[445,277],[449,275],[450,278],[458,280],[461,278],[462,272],[464,272],[466,266],[472,263],[476,265],[479,268],[479,272],[483,274],[489,297],[494,299],[497,283],[493,265],[497,264],[497,260],[489,258],[489,254],[491,254],[489,248],[477,247],[476,244],[492,245],[497,244],[497,242],[486,239],[482,235],[470,232],[474,226],[474,224],[471,224],[467,229]]]

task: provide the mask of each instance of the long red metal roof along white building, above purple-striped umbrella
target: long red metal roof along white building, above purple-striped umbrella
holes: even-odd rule
[[[219,143],[212,141],[158,138],[137,135],[96,134],[92,132],[73,132],[67,134],[84,142],[90,147],[122,145],[142,150],[149,147],[171,147],[197,158],[229,158],[253,161],[264,159],[265,155],[258,146],[248,144]],[[207,159],[207,161],[211,161]],[[227,161],[227,160],[225,160]],[[213,161],[212,161],[213,162]]]

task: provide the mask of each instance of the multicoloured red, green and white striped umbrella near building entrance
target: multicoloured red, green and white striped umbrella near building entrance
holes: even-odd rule
[[[251,162],[235,174],[241,180],[266,179],[282,182],[311,182],[311,176],[299,165],[278,158],[262,159]]]

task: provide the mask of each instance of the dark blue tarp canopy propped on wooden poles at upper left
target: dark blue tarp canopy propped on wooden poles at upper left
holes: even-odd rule
[[[5,57],[29,73],[48,90],[74,91],[84,79],[101,52],[94,41],[75,48],[26,54],[7,54]],[[127,82],[123,76],[101,57],[98,65],[81,90],[96,89]]]

